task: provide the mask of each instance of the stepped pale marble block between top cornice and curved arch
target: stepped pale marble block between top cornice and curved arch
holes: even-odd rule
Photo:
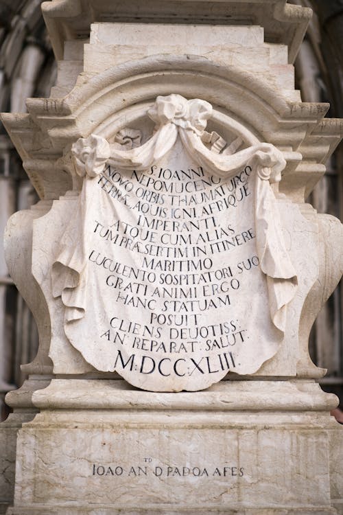
[[[287,47],[266,43],[265,31],[257,25],[231,27],[228,31],[226,25],[154,23],[152,34],[145,23],[93,23],[89,43],[84,45],[84,73],[99,73],[156,54],[202,55],[217,64],[246,68],[254,71],[255,78],[261,77],[282,90],[289,100],[300,100]],[[56,92],[67,91],[65,86],[71,77],[75,83],[76,71],[72,63],[65,71],[60,69],[58,82],[62,88]]]

